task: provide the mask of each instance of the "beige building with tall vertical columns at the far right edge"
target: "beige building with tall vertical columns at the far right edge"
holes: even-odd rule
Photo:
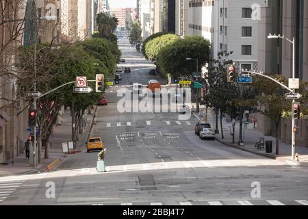
[[[272,0],[261,8],[259,21],[259,70],[292,77],[292,44],[287,40],[268,39],[268,34],[281,34],[296,40],[296,77],[308,81],[308,1]],[[287,92],[287,91],[286,91]],[[307,107],[307,106],[306,106]],[[291,109],[291,105],[290,105]],[[308,120],[296,121],[296,144],[308,146]],[[291,120],[281,123],[281,141],[291,143]],[[259,115],[258,129],[274,135],[274,125]]]

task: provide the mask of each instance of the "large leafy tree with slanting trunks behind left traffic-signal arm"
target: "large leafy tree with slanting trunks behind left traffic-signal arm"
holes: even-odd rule
[[[26,96],[27,93],[31,92],[34,80],[37,82],[37,90],[44,93],[68,81],[75,81],[79,75],[84,75],[88,79],[95,79],[94,58],[81,47],[61,46],[58,49],[49,49],[44,44],[38,44],[37,47],[36,78],[33,75],[34,47],[19,48],[18,68],[24,70],[26,79],[18,80],[18,96]],[[49,140],[62,105],[68,105],[72,101],[76,103],[76,128],[78,129],[84,113],[84,105],[95,103],[98,97],[97,94],[73,94],[73,86],[73,84],[66,86],[37,101],[38,125],[42,131],[40,138],[38,138],[39,151],[43,144],[46,147],[45,158],[49,157]],[[29,101],[31,103],[31,100]]]

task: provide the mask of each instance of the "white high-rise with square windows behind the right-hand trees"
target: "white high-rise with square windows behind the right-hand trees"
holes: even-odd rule
[[[263,0],[189,2],[189,34],[211,42],[214,59],[220,51],[233,51],[229,59],[238,69],[257,70],[259,7]]]

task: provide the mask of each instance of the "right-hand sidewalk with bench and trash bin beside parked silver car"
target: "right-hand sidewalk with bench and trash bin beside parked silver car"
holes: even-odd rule
[[[214,115],[213,111],[209,109],[208,113],[209,123],[212,127],[214,126]],[[299,153],[299,162],[292,159],[292,147],[290,144],[285,144],[283,142],[279,143],[279,155],[276,155],[276,138],[272,136],[263,136],[256,129],[257,123],[255,123],[255,129],[253,123],[247,125],[247,129],[244,129],[243,142],[244,145],[238,146],[238,138],[240,133],[240,121],[236,121],[235,124],[235,143],[232,143],[232,136],[230,133],[230,127],[232,129],[232,123],[227,123],[226,120],[222,119],[222,128],[224,133],[224,138],[222,139],[221,133],[216,134],[216,140],[222,142],[227,146],[233,146],[244,151],[249,151],[251,153],[256,153],[258,155],[271,157],[272,159],[279,159],[287,164],[298,165],[298,166],[308,166],[308,148],[305,146],[296,146],[296,153]],[[244,128],[244,125],[243,125]],[[220,115],[218,116],[218,129],[220,131]],[[267,140],[272,141],[272,153],[266,153],[266,149],[258,150],[255,148],[255,143],[259,142],[259,138],[264,138],[264,144]]]

